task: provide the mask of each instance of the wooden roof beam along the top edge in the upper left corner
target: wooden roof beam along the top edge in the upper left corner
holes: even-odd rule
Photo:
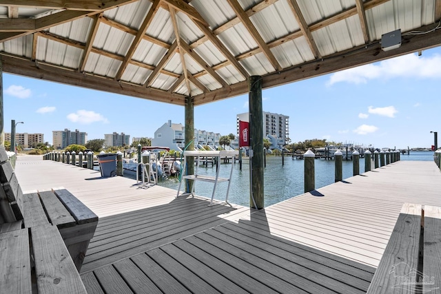
[[[30,6],[67,10],[101,11],[138,0],[0,0],[2,6]]]

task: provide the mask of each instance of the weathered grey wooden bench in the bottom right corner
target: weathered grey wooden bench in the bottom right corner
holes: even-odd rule
[[[367,293],[441,291],[441,207],[405,203]]]

